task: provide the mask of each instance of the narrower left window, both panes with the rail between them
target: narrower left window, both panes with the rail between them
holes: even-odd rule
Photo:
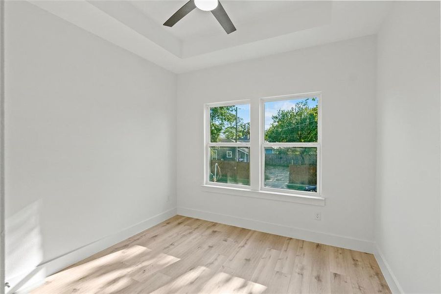
[[[209,106],[207,116],[208,181],[249,186],[250,104]]]

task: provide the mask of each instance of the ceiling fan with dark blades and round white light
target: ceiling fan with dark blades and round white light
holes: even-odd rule
[[[219,24],[225,29],[227,34],[230,34],[236,30],[230,17],[219,0],[189,0],[186,2],[186,4],[184,4],[184,6],[179,8],[179,10],[174,13],[164,23],[164,25],[170,27],[175,25],[196,7],[204,11],[211,11]]]

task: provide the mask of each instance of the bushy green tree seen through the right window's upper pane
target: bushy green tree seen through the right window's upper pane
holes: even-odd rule
[[[270,127],[265,130],[265,141],[317,142],[318,106],[309,107],[308,100],[297,102],[291,109],[279,109],[272,116]]]

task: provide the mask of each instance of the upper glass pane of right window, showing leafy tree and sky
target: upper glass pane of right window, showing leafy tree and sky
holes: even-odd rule
[[[265,102],[265,142],[317,142],[318,98]]]

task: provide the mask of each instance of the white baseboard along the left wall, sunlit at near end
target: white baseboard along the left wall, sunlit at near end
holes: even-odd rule
[[[7,289],[6,293],[28,293],[44,282],[44,278],[64,268],[79,262],[94,253],[104,250],[118,242],[121,242],[133,235],[138,234],[162,221],[165,221],[176,215],[176,208],[164,211],[156,216],[153,216],[145,221],[141,221],[133,226],[125,228],[115,234],[106,236],[96,240],[90,244],[84,245],[80,248],[72,250],[64,255],[49,260],[40,264],[31,273],[25,277],[15,277],[8,279],[11,288]]]

